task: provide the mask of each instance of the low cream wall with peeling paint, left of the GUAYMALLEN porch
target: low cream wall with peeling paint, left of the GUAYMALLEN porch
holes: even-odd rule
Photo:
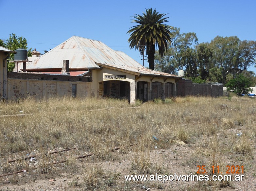
[[[92,82],[8,79],[8,99],[35,96],[37,99],[72,96],[72,84],[77,84],[77,97],[90,97]]]

